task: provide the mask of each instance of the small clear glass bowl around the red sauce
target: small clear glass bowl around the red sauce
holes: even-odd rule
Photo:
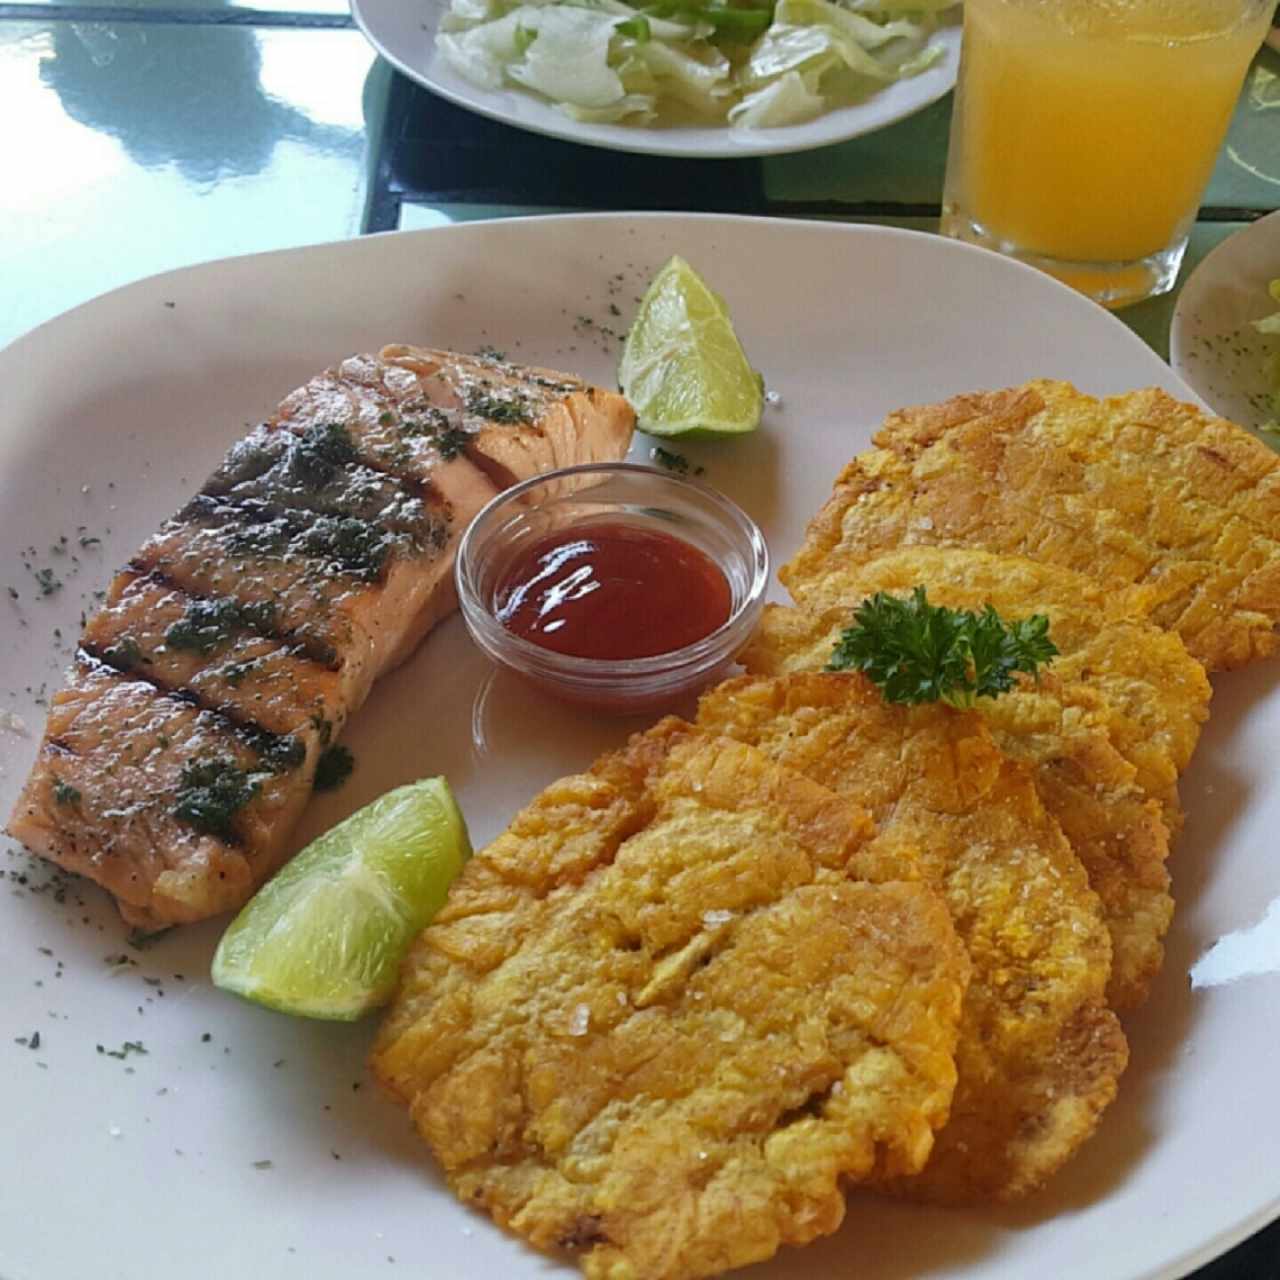
[[[508,631],[497,589],[532,540],[585,521],[652,527],[696,547],[728,581],[728,620],[694,644],[652,658],[576,658]],[[764,607],[769,552],[755,521],[704,484],[632,462],[585,463],[498,494],[462,535],[454,575],[471,637],[494,662],[541,689],[613,714],[653,712],[721,676]]]

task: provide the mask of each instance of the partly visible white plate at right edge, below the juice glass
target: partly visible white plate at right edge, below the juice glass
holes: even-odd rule
[[[1222,241],[1192,271],[1169,333],[1169,361],[1222,417],[1257,428],[1274,417],[1271,362],[1280,338],[1257,332],[1280,307],[1267,283],[1280,276],[1280,212]]]

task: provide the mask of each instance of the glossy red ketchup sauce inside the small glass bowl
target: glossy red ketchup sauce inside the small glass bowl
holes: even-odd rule
[[[650,658],[728,621],[719,566],[671,534],[612,521],[575,525],[522,548],[497,588],[498,621],[575,658]]]

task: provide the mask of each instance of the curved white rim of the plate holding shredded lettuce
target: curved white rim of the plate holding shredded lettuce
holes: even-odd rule
[[[748,134],[742,131],[735,132],[727,125],[723,125],[723,143],[678,146],[672,142],[663,141],[667,136],[666,131],[650,129],[645,125],[580,124],[568,116],[564,116],[563,125],[558,125],[553,116],[548,116],[545,120],[513,119],[499,105],[488,101],[495,91],[484,90],[479,86],[474,87],[471,92],[463,92],[453,88],[428,74],[425,70],[413,67],[398,52],[394,52],[390,47],[388,47],[383,37],[375,29],[378,27],[376,19],[371,18],[369,12],[371,6],[376,8],[378,3],[379,0],[351,0],[351,15],[356,26],[380,58],[389,63],[407,79],[412,81],[428,92],[445,99],[445,101],[452,102],[454,106],[460,106],[467,111],[474,111],[475,114],[483,115],[490,120],[497,120],[499,124],[506,124],[515,129],[524,129],[529,133],[536,133],[541,137],[557,138],[562,142],[577,143],[579,146],[599,147],[607,151],[621,151],[628,155],[666,156],[668,159],[677,160],[749,160],[751,157],[772,155],[794,155],[796,152],[814,151],[820,147],[835,146],[841,142],[849,142],[854,138],[864,137],[868,133],[874,133],[891,124],[897,124],[946,97],[946,95],[955,88],[960,58],[959,20],[955,17],[955,9],[946,10],[946,13],[950,14],[950,18],[943,23],[941,31],[948,74],[945,77],[945,83],[940,87],[928,88],[919,101],[913,102],[913,105],[906,110],[876,124],[855,127],[847,131],[841,131],[838,128],[831,129],[828,131],[829,136],[824,134],[818,138],[805,138],[803,136],[797,137],[792,131],[803,131],[806,125],[812,125],[822,120],[838,119],[840,110],[851,109],[837,109],[837,111],[828,111],[824,115],[817,116],[815,120],[804,122],[803,124],[796,125],[781,125],[774,129],[760,131],[759,134]],[[959,5],[960,0],[954,0],[954,3],[955,5]],[[430,42],[429,49],[431,50],[434,50],[438,22],[438,14],[425,10],[425,19],[422,23],[424,41]],[[927,74],[927,72],[922,74]],[[908,83],[908,81],[895,81],[895,83],[904,84]],[[516,90],[509,90],[508,92],[516,92]],[[484,97],[480,95],[484,95]],[[541,104],[536,99],[530,99],[530,101],[536,102],[539,106],[548,106],[549,110],[554,110],[549,106],[549,104]],[[712,125],[707,125],[708,131]],[[595,129],[611,129],[616,132],[598,134],[594,132]],[[634,138],[630,136],[632,131],[635,133]],[[673,132],[678,136],[678,131]]]

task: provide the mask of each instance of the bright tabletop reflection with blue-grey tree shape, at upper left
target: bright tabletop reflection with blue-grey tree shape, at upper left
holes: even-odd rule
[[[352,31],[0,22],[0,343],[118,284],[361,229]],[[56,157],[56,163],[50,163]]]

